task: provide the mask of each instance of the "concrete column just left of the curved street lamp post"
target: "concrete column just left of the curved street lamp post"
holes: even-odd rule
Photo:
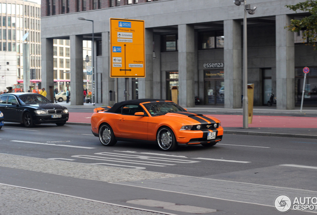
[[[70,87],[70,105],[84,105],[83,37],[80,35],[70,36]]]

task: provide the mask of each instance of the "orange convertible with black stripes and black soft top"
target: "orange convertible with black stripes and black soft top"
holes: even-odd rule
[[[170,101],[154,99],[95,108],[91,129],[105,146],[113,146],[117,140],[146,140],[156,141],[165,151],[177,145],[213,146],[223,135],[218,119],[188,112]]]

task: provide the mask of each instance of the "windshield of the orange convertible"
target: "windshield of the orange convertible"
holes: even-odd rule
[[[187,112],[184,108],[172,102],[156,102],[143,104],[152,116],[163,115],[168,112]]]

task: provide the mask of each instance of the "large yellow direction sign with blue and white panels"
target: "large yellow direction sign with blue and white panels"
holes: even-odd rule
[[[110,18],[110,77],[145,77],[144,20]]]

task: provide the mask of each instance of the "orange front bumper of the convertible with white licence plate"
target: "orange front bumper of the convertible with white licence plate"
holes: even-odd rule
[[[209,132],[216,132],[215,139],[207,139]],[[175,133],[178,145],[204,144],[219,142],[222,140],[223,128],[220,126],[213,130],[181,130]]]

